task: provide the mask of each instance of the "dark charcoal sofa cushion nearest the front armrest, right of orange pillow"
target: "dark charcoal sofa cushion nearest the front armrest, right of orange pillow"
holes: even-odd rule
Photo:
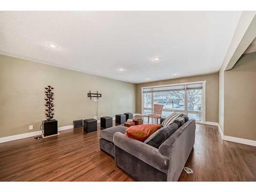
[[[168,139],[171,135],[173,135],[177,130],[178,130],[177,123],[172,123],[167,126],[164,126],[161,130],[159,130],[156,137],[148,141],[146,144],[158,148],[166,139]]]

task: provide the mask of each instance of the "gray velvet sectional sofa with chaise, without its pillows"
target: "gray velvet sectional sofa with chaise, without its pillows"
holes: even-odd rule
[[[126,129],[118,125],[102,130],[101,150],[137,181],[178,181],[195,143],[195,119],[180,126],[159,148],[127,137]]]

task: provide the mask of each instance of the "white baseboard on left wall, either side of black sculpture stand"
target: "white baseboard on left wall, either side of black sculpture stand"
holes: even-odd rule
[[[60,126],[58,127],[58,131],[63,131],[63,130],[69,130],[69,129],[73,129],[74,125],[68,125],[68,126]],[[41,131],[36,131],[36,132],[29,132],[29,133],[24,133],[24,134],[18,134],[18,135],[12,135],[12,136],[8,136],[8,137],[1,137],[0,138],[0,143],[4,143],[4,142],[8,142],[8,141],[13,141],[13,140],[17,140],[17,139],[24,139],[27,137],[34,137],[37,135],[41,135]]]

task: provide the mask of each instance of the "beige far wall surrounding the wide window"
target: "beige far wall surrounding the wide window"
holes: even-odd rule
[[[148,86],[160,86],[183,82],[194,82],[206,80],[206,109],[205,120],[218,122],[219,112],[219,76],[218,73],[184,77],[156,82],[141,83],[136,85],[136,113],[141,113],[141,88]]]

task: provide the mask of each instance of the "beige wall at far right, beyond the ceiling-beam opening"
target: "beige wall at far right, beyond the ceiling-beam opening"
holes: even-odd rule
[[[256,52],[224,75],[224,135],[256,140]]]

